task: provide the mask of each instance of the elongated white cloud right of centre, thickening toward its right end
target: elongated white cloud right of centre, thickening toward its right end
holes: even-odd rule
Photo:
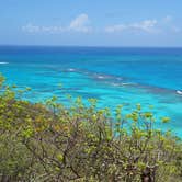
[[[148,33],[155,33],[159,31],[157,29],[157,20],[145,20],[141,22],[129,23],[129,24],[116,24],[105,27],[105,32],[123,32],[123,31],[143,31]]]

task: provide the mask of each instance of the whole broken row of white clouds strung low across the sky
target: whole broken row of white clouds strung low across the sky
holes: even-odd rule
[[[96,27],[92,27],[90,25],[90,20],[88,14],[82,13],[71,20],[68,25],[61,26],[43,26],[35,25],[33,23],[27,23],[22,26],[23,32],[27,33],[47,33],[47,34],[60,34],[66,32],[77,32],[77,33],[91,33],[99,30]],[[167,15],[161,20],[149,19],[143,20],[140,22],[132,22],[132,23],[118,23],[114,25],[107,25],[99,30],[100,33],[123,33],[123,32],[144,32],[144,33],[162,33],[162,32],[173,32],[179,33],[181,29],[173,25],[173,18],[171,15]]]

